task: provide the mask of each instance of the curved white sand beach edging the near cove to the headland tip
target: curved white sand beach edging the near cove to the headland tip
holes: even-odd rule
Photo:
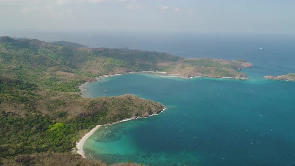
[[[126,118],[123,119],[121,121],[117,121],[117,122],[113,122],[113,123],[108,123],[108,124],[103,124],[103,125],[96,125],[94,128],[92,128],[89,132],[87,132],[79,141],[76,142],[76,147],[73,150],[73,152],[76,152],[77,154],[81,155],[83,158],[87,158],[85,156],[84,150],[83,150],[83,145],[85,143],[85,141],[100,127],[104,127],[104,126],[109,126],[109,125],[113,125],[113,124],[118,124],[121,122],[125,122],[125,121],[130,121],[130,120],[135,120],[135,119],[140,119],[140,118],[148,118],[151,116],[155,116],[155,115],[159,115],[161,112],[165,111],[167,108],[164,107],[160,112],[158,112],[157,114],[151,114],[147,117],[130,117],[130,118]],[[100,161],[100,160],[99,160]]]

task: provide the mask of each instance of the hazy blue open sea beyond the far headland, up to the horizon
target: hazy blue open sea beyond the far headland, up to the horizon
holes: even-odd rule
[[[246,59],[253,77],[295,71],[295,34],[168,32],[38,32],[0,31],[0,36],[70,41],[92,48],[124,48],[167,52],[187,58]]]

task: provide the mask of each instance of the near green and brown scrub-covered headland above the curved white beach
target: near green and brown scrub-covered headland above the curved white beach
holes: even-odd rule
[[[163,109],[133,95],[77,98],[7,78],[1,79],[0,87],[0,158],[70,152],[81,130]]]

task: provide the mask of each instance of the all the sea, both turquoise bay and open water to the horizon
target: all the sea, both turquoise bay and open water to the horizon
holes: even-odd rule
[[[108,164],[295,165],[295,82],[263,79],[295,72],[294,35],[83,32],[16,37],[21,36],[254,64],[242,71],[248,80],[125,74],[84,86],[88,97],[135,94],[167,107],[157,116],[99,128],[84,144],[88,158]]]

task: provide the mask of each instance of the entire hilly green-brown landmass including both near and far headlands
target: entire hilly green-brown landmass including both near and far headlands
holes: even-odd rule
[[[19,165],[56,165],[56,158],[71,165],[103,165],[73,153],[76,142],[97,125],[164,109],[161,103],[129,94],[83,98],[80,85],[99,76],[150,71],[246,79],[239,70],[252,66],[245,60],[188,59],[8,36],[0,37],[0,64],[0,164]]]

